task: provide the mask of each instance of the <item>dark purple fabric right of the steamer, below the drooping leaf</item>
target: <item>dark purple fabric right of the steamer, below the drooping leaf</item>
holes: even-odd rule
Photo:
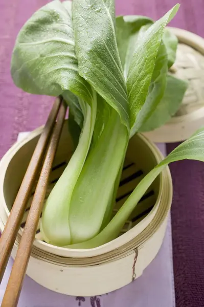
[[[168,153],[175,144],[168,144]],[[176,307],[204,306],[204,164],[184,160],[170,165]]]

